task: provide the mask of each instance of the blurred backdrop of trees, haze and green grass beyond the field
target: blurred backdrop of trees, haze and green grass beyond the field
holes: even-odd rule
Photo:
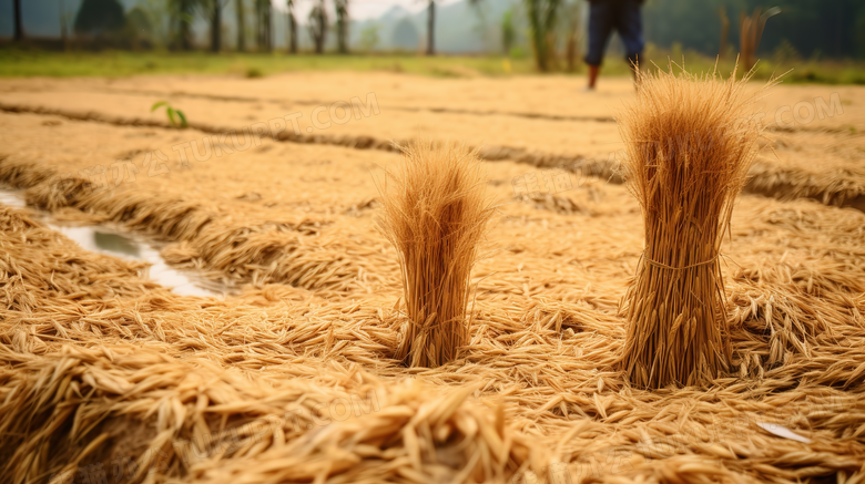
[[[586,0],[0,0],[0,74],[583,72]],[[645,61],[865,84],[862,0],[647,0]],[[431,33],[431,34],[430,34]],[[539,54],[541,52],[541,54]],[[627,74],[613,35],[604,74]],[[431,59],[430,59],[431,58]],[[74,60],[75,62],[69,62]],[[778,72],[780,71],[780,72]]]

